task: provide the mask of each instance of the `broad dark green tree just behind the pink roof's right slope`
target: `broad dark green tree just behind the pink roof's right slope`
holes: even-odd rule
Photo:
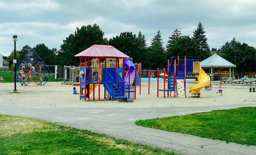
[[[110,38],[108,44],[114,46],[119,51],[133,58],[133,62],[139,61],[139,40],[136,35],[132,34],[132,32],[123,32],[119,36]]]

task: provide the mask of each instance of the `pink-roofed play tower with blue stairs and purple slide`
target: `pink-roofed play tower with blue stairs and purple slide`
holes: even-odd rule
[[[125,67],[134,70],[131,60],[125,60],[130,58],[129,56],[107,45],[93,45],[75,56],[80,57],[80,99],[90,99],[90,94],[93,93],[94,100],[94,89],[98,86],[100,100],[100,84],[103,84],[104,99],[134,101],[135,91],[132,83],[136,74],[129,72],[125,75]],[[103,63],[100,63],[100,59],[104,59]]]

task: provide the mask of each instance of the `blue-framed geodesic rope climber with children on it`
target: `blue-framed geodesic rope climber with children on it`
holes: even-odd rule
[[[14,74],[14,72],[12,72]],[[44,85],[53,76],[52,71],[46,66],[42,59],[33,50],[27,58],[17,67],[16,79],[21,85],[28,85],[33,82],[37,85]]]

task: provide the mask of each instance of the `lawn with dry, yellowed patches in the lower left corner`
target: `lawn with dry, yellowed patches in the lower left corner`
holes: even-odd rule
[[[88,130],[0,115],[0,155],[177,155]]]

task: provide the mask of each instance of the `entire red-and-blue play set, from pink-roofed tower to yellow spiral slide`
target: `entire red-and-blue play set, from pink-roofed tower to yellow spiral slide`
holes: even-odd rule
[[[86,100],[87,97],[90,99],[90,94],[93,93],[94,100],[94,89],[98,86],[98,100],[100,100],[100,84],[104,86],[104,99],[112,98],[112,100],[118,99],[118,101],[126,99],[128,102],[132,102],[136,99],[136,85],[140,86],[141,94],[141,72],[147,70],[141,70],[141,63],[134,65],[131,59],[127,59],[129,58],[127,55],[114,47],[93,45],[77,54],[76,57],[80,57],[80,99]],[[82,57],[84,63],[82,63]],[[100,59],[104,59],[103,63],[100,63]],[[172,57],[171,64],[169,63],[170,61],[168,61],[167,79],[163,80],[163,89],[159,89],[160,70],[154,71],[157,72],[157,97],[159,91],[164,92],[164,98],[166,91],[167,96],[171,96],[171,92],[174,91],[174,97],[186,97],[186,75],[195,75],[198,78],[198,84],[191,86],[189,93],[200,97],[200,90],[210,82],[210,77],[201,68],[201,62],[186,59],[185,56],[185,59],[178,57],[177,64],[176,58]],[[128,71],[125,68],[128,68]],[[148,72],[150,87],[150,71]],[[161,72],[166,74],[165,69]],[[132,84],[133,81],[134,84]],[[165,81],[167,81],[167,88],[165,88]]]

